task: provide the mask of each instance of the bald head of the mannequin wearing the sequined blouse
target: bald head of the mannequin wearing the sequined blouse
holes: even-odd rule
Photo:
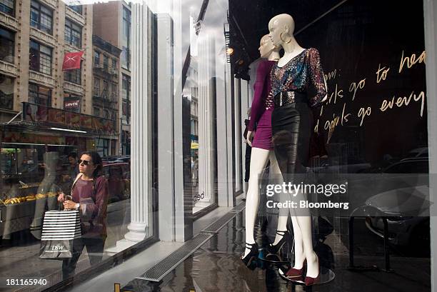
[[[268,31],[270,31],[273,46],[283,46],[293,39],[294,19],[288,14],[279,14],[268,21]]]

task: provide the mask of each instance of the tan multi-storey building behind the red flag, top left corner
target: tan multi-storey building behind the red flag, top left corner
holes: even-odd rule
[[[1,1],[1,121],[19,113],[22,102],[91,114],[92,9],[57,0]],[[84,51],[81,69],[62,71],[70,51]]]

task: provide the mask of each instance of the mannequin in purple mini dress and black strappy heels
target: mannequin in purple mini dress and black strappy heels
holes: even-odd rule
[[[248,179],[248,189],[246,196],[246,249],[241,256],[241,260],[248,266],[253,258],[258,256],[258,245],[253,238],[253,227],[255,225],[256,211],[259,204],[258,177],[270,161],[271,173],[280,174],[278,162],[271,146],[271,112],[273,104],[271,98],[268,99],[269,76],[271,68],[279,59],[279,49],[273,46],[268,35],[263,36],[260,41],[258,51],[261,61],[256,72],[255,93],[251,107],[251,120],[248,124],[247,143],[252,147],[250,173]],[[253,135],[254,125],[257,123],[256,132]],[[252,140],[253,136],[253,141]],[[273,245],[277,245],[286,233],[287,217],[278,220],[278,231]],[[281,242],[283,243],[283,241]]]

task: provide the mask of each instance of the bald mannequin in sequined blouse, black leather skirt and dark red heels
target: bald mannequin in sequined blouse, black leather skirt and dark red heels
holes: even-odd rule
[[[316,49],[303,49],[293,36],[294,20],[288,14],[274,16],[268,23],[274,46],[282,47],[284,55],[271,71],[272,143],[284,181],[294,181],[296,173],[306,173],[311,131],[313,129],[310,107],[320,106],[327,99],[326,81]],[[312,85],[316,96],[307,96]],[[294,181],[294,182],[293,182]],[[296,193],[295,201],[305,200],[303,193]],[[313,285],[320,276],[320,266],[313,251],[311,214],[309,210],[290,208],[295,240],[294,265],[288,271],[280,269],[288,280],[304,281]],[[303,265],[306,276],[303,278]]]

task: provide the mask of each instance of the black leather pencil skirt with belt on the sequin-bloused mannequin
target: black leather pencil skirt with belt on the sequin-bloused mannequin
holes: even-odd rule
[[[288,91],[273,98],[272,144],[284,181],[294,173],[306,173],[313,116],[306,94]]]

